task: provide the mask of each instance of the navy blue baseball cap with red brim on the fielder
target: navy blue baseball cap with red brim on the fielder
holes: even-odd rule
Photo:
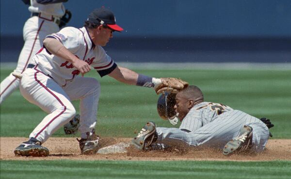
[[[102,24],[104,26],[108,26],[112,30],[123,30],[120,26],[116,24],[116,19],[113,12],[104,7],[92,11],[88,16],[87,21],[94,24]]]

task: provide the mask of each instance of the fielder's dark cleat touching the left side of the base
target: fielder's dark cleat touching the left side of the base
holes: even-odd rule
[[[79,146],[81,149],[81,153],[85,155],[92,155],[95,154],[98,150],[98,141],[99,141],[99,136],[95,134],[91,134],[88,136],[86,139],[81,138],[80,140],[77,138],[79,142]]]

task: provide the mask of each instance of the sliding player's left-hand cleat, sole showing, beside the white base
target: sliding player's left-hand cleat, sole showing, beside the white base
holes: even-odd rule
[[[140,150],[147,149],[153,142],[157,140],[156,124],[154,122],[146,122],[146,125],[140,133],[131,140],[131,143]]]

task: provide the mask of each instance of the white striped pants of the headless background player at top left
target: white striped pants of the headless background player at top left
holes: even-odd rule
[[[23,27],[24,45],[18,57],[18,62],[14,72],[23,73],[32,57],[42,47],[44,38],[54,32],[59,31],[59,27],[37,16],[29,18]],[[12,75],[8,75],[0,84],[0,104],[19,86],[19,80]]]

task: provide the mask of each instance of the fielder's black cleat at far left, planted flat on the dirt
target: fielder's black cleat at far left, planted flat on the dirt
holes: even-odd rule
[[[41,142],[32,137],[29,141],[20,144],[14,153],[16,156],[46,157],[49,155],[49,149],[42,147]]]

